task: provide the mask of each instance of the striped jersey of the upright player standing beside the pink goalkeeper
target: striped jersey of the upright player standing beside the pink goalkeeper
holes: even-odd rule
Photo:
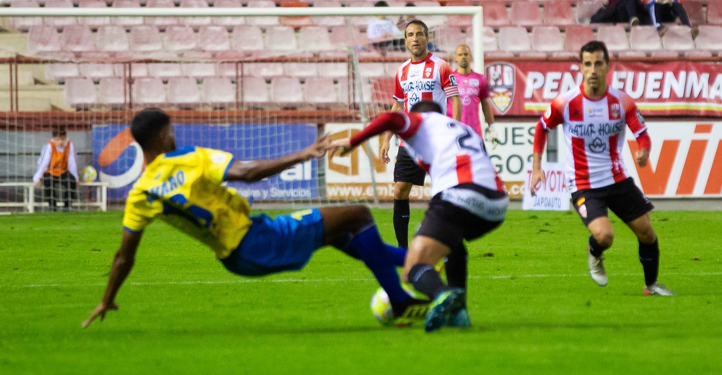
[[[432,53],[422,61],[412,62],[409,58],[396,71],[393,99],[404,102],[404,112],[409,112],[417,102],[432,100],[446,113],[447,99],[458,96],[452,73],[451,66]]]

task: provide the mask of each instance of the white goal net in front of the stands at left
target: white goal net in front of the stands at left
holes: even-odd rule
[[[0,8],[0,211],[123,203],[146,163],[129,122],[147,107],[170,114],[179,147],[222,149],[242,161],[300,151],[322,133],[347,138],[391,109],[393,76],[409,58],[406,22],[426,22],[430,51],[450,62],[456,45],[473,48],[482,30],[480,14],[477,23],[471,15],[480,8],[471,6],[56,2]],[[400,31],[379,35],[370,30],[378,24]],[[480,47],[474,55],[481,60]],[[76,162],[43,164],[45,145],[63,132]],[[349,156],[229,185],[253,203],[298,208],[383,202],[393,199],[393,162],[384,164],[379,148],[374,138]],[[392,161],[396,149],[392,143]],[[63,172],[77,183],[53,176]],[[430,198],[428,190],[415,187],[412,199]]]

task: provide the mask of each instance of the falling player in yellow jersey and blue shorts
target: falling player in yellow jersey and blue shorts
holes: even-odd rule
[[[113,260],[103,300],[83,323],[87,327],[108,310],[129,275],[144,229],[161,219],[213,250],[232,273],[261,276],[300,270],[313,252],[330,245],[362,260],[386,290],[396,324],[421,320],[428,301],[406,294],[396,273],[406,250],[385,244],[365,206],[313,208],[275,219],[249,217],[248,201],[224,181],[254,182],[326,154],[326,136],[303,151],[278,159],[238,162],[214,149],[175,147],[170,118],[162,110],[139,112],[131,134],[143,149],[147,168],[126,200],[123,240]]]

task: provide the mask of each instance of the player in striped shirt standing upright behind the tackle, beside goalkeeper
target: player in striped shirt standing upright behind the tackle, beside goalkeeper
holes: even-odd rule
[[[396,71],[396,89],[393,92],[396,102],[391,110],[409,112],[417,102],[432,100],[446,113],[446,100],[450,99],[452,117],[461,120],[461,100],[451,66],[427,48],[429,28],[424,22],[414,20],[406,25],[404,37],[411,58]],[[380,157],[387,164],[391,162],[388,149],[392,136],[392,133],[387,133],[381,142]],[[426,172],[414,164],[402,142],[393,166],[393,231],[399,247],[409,247],[409,194],[414,185],[423,186],[425,178]]]

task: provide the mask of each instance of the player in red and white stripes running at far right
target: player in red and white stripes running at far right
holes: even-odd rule
[[[531,191],[534,193],[536,186],[545,182],[541,154],[547,132],[562,125],[567,144],[567,187],[572,192],[574,207],[591,232],[587,247],[591,278],[599,286],[606,286],[602,252],[614,240],[614,228],[606,211],[609,208],[639,240],[644,294],[674,296],[674,292],[657,282],[659,242],[649,219],[654,206],[634,184],[620,156],[628,126],[639,144],[635,161],[640,167],[647,164],[652,143],[644,118],[631,97],[607,87],[610,66],[604,43],[596,40],[587,43],[579,57],[583,84],[554,99],[536,124]]]

